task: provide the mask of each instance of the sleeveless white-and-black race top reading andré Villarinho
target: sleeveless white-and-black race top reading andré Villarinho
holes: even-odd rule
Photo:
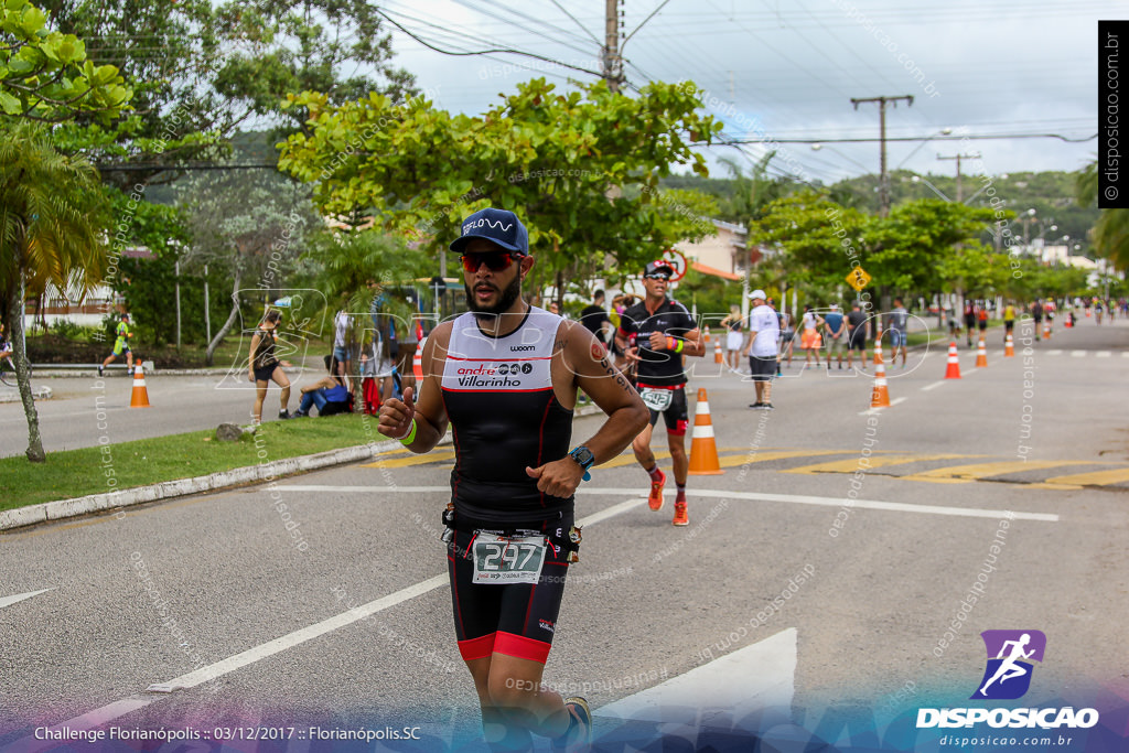
[[[560,323],[530,307],[520,326],[496,338],[471,313],[455,319],[443,402],[455,437],[456,518],[534,523],[571,509],[571,497],[537,491],[536,479],[525,473],[525,466],[564,457],[572,438],[572,411],[557,401],[550,368]]]

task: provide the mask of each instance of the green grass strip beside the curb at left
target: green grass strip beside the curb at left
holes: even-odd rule
[[[189,479],[260,462],[369,441],[386,441],[376,430],[376,417],[360,413],[327,418],[270,421],[259,428],[259,447],[251,436],[242,441],[217,441],[215,431],[140,439],[117,445],[49,453],[47,462],[32,464],[23,455],[0,458],[0,509],[26,507],[56,499],[143,487]],[[265,457],[260,458],[261,450]],[[116,487],[107,484],[110,474]]]

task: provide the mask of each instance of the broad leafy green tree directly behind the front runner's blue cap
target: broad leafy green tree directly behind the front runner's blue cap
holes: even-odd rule
[[[282,145],[279,164],[315,184],[324,213],[374,214],[441,253],[466,214],[513,210],[541,252],[534,288],[633,274],[675,242],[714,231],[702,219],[711,200],[659,190],[673,165],[704,174],[691,145],[721,129],[684,87],[651,84],[625,97],[597,82],[559,94],[534,79],[476,117],[376,94],[340,106],[321,93],[289,102],[308,114],[308,133]]]

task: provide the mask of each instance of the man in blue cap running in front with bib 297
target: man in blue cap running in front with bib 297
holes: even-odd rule
[[[426,453],[448,420],[454,429],[445,540],[458,649],[487,742],[532,750],[536,733],[554,745],[584,743],[587,702],[541,684],[580,541],[572,494],[590,466],[627,447],[647,410],[580,323],[522,299],[534,260],[516,214],[471,214],[450,249],[462,254],[471,312],[435,329],[419,402],[411,387],[385,402],[379,430]],[[578,387],[609,418],[570,453]]]

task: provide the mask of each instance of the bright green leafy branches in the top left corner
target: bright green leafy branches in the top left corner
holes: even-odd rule
[[[108,122],[131,96],[117,68],[95,64],[82,41],[51,28],[42,9],[28,0],[0,5],[0,113],[62,122],[86,112]]]

